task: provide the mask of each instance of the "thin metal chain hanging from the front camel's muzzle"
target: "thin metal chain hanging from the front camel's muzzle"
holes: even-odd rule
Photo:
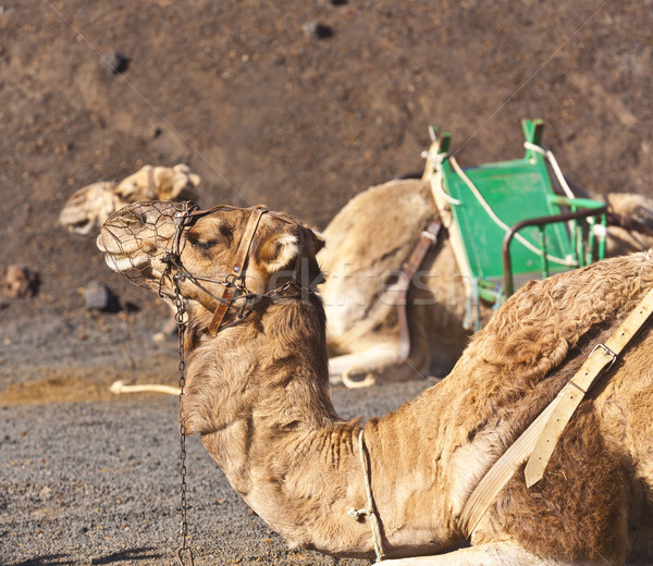
[[[180,566],[193,566],[193,551],[186,544],[188,538],[188,520],[186,517],[186,423],[182,413],[182,399],[184,397],[184,386],[186,384],[186,361],[184,360],[184,334],[186,331],[186,307],[182,297],[178,280],[174,278],[175,284],[175,307],[174,320],[177,323],[177,334],[180,339],[180,492],[181,492],[181,537],[182,545],[177,549],[176,556]],[[185,562],[187,559],[187,562]]]

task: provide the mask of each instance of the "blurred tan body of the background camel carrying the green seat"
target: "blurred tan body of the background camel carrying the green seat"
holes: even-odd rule
[[[613,218],[636,221],[640,229],[632,222],[626,227],[608,226],[607,257],[653,246],[652,199],[609,194],[606,201]],[[470,336],[464,329],[467,295],[443,230],[414,278],[407,298],[411,352],[407,364],[397,365],[399,333],[393,284],[434,216],[427,183],[391,181],[356,196],[324,230],[326,246],[318,259],[326,276],[322,296],[332,382],[342,374],[370,372],[395,380],[445,376],[460,356]],[[493,312],[490,304],[480,303],[483,324]]]

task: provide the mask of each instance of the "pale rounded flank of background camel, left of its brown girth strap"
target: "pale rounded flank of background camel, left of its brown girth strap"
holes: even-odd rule
[[[340,337],[346,343],[369,333],[394,311],[380,296],[435,213],[428,184],[395,180],[357,195],[326,226],[318,260],[328,275],[322,296],[330,347],[340,349]]]

